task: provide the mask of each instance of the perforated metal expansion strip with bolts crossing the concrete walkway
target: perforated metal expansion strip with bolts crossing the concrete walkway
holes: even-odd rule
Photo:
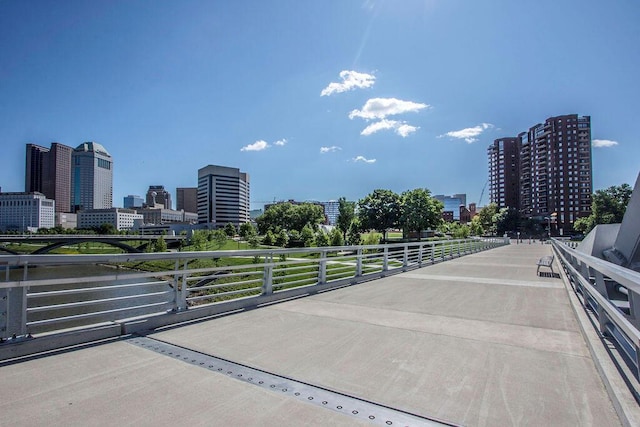
[[[153,338],[133,337],[127,342],[211,372],[217,372],[229,378],[359,418],[372,424],[382,426],[455,426],[455,424],[414,415]]]

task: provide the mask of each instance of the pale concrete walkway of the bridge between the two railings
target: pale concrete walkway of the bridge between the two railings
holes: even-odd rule
[[[387,423],[404,411],[469,426],[620,425],[562,280],[536,276],[549,254],[500,247],[143,338],[285,377],[274,387],[132,340],[0,365],[0,424],[410,424]],[[354,414],[348,396],[383,407]]]

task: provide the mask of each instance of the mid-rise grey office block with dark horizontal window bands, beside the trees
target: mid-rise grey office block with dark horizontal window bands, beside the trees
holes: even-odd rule
[[[198,170],[198,223],[215,228],[249,222],[249,174],[208,165]]]

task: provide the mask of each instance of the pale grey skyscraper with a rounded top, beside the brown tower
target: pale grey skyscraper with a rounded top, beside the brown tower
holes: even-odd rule
[[[113,160],[96,142],[78,145],[72,154],[74,212],[113,206]]]

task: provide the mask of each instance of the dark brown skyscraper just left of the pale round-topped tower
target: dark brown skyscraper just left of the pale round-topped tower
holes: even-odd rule
[[[73,148],[54,142],[51,148],[27,144],[25,191],[38,191],[55,200],[56,212],[71,211],[71,153]]]

